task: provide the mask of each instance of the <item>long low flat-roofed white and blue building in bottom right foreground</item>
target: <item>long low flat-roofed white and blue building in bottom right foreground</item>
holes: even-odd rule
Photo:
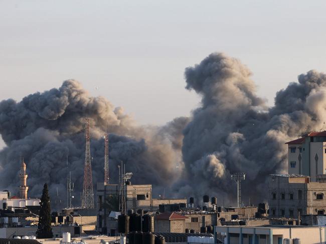
[[[326,227],[323,226],[215,226],[216,239],[224,239],[228,244],[282,244],[284,239],[300,239],[300,243],[325,243]],[[287,242],[292,243],[292,242]]]

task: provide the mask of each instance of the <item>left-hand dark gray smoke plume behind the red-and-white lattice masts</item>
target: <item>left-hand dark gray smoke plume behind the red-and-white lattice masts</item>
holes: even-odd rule
[[[122,108],[114,108],[103,97],[89,96],[79,82],[67,80],[58,89],[30,94],[20,102],[0,102],[0,133],[7,144],[0,151],[0,186],[18,193],[20,158],[24,157],[30,196],[40,196],[42,185],[48,182],[53,205],[65,206],[66,175],[71,170],[76,187],[74,203],[80,204],[85,117],[91,124],[94,185],[104,177],[103,135],[107,126],[111,182],[117,182],[121,160],[126,170],[134,173],[134,183],[169,186],[178,178],[180,171],[175,169],[182,158],[181,131],[187,118],[176,118],[162,128],[137,126]]]

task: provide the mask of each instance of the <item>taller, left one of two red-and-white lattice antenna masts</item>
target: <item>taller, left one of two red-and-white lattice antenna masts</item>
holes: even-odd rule
[[[93,193],[93,181],[92,181],[92,166],[91,166],[91,151],[89,141],[89,118],[85,118],[85,168],[84,168],[84,185],[82,196],[82,207],[94,208],[94,193]]]

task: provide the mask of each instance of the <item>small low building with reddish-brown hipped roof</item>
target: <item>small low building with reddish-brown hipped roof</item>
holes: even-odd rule
[[[164,212],[155,216],[155,232],[185,233],[188,217],[176,212]]]

